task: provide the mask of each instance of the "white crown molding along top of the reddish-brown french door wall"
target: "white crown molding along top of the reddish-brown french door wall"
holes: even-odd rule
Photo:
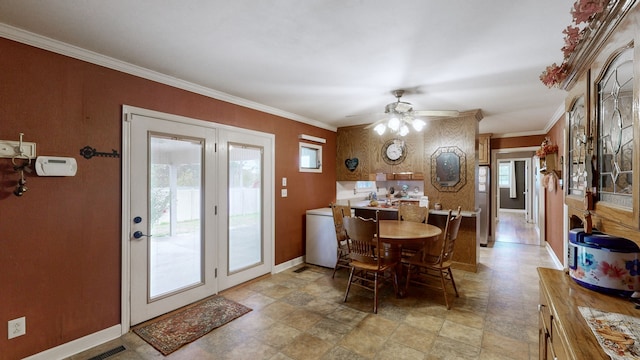
[[[258,110],[264,113],[280,116],[289,120],[298,121],[308,125],[316,126],[322,129],[337,131],[335,126],[322,123],[317,120],[309,119],[304,116],[293,114],[287,111],[276,109],[264,104],[249,101],[227,93],[214,90],[205,86],[184,81],[173,76],[149,70],[137,65],[133,65],[109,56],[105,56],[87,49],[83,49],[74,45],[64,43],[55,39],[51,39],[42,35],[38,35],[26,30],[22,30],[7,24],[0,23],[0,37],[13,40],[19,43],[30,45],[39,49],[54,52],[56,54],[68,56],[74,59],[86,61],[91,64],[103,66],[112,70],[120,71],[126,74],[134,75],[143,79],[152,80],[164,85],[186,90],[195,94],[204,95],[216,100],[225,101],[231,104],[239,105],[249,109]]]

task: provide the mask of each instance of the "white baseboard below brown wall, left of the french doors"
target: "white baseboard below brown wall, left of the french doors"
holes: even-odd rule
[[[93,334],[81,337],[68,343],[45,350],[41,353],[24,358],[23,360],[52,360],[64,359],[71,355],[81,353],[108,341],[119,338],[122,335],[122,326],[114,325]]]

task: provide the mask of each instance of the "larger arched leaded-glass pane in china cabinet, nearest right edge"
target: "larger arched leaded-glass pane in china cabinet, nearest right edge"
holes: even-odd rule
[[[598,83],[598,105],[600,200],[631,208],[633,49],[618,55]]]

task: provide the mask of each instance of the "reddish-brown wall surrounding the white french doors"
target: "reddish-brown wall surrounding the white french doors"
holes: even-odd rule
[[[305,210],[335,198],[333,131],[6,39],[0,54],[0,139],[22,132],[39,155],[78,162],[74,177],[28,174],[29,190],[16,197],[18,174],[11,159],[0,159],[0,324],[27,318],[24,336],[7,340],[0,330],[2,359],[120,323],[121,161],[86,160],[79,150],[122,154],[123,104],[275,134],[276,264],[304,254]],[[298,172],[301,133],[327,139],[323,174]],[[279,196],[282,177],[287,198]]]

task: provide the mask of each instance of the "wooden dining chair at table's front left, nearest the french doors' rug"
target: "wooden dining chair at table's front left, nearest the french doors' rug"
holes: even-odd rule
[[[347,302],[351,285],[373,291],[373,312],[378,313],[378,292],[385,280],[385,272],[389,271],[393,280],[394,292],[398,292],[398,276],[396,274],[397,258],[385,256],[384,244],[377,234],[380,233],[380,223],[376,219],[361,217],[344,217],[344,229],[350,239],[349,257],[351,258],[351,272],[344,302]]]

